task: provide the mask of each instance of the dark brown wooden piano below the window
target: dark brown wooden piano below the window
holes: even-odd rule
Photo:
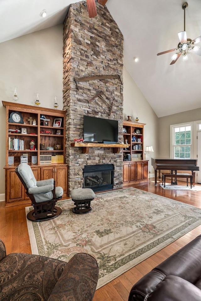
[[[171,170],[171,173],[176,173],[177,170],[191,170],[193,175],[193,185],[195,185],[195,171],[199,170],[197,159],[169,159],[169,158],[151,158],[151,165],[155,171],[155,185],[157,185],[157,170]]]

